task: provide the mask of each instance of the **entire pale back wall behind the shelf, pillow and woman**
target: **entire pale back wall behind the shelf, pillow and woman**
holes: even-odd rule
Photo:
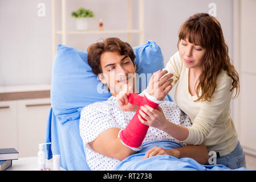
[[[37,14],[38,3],[46,5],[46,16]],[[60,30],[60,1],[56,3],[56,28]],[[144,0],[145,42],[154,40],[162,49],[165,63],[177,51],[178,29],[190,15],[209,11],[209,3],[216,3],[217,18],[222,24],[226,42],[232,57],[232,0]],[[126,0],[67,0],[67,30],[75,30],[75,21],[70,16],[79,7],[91,9],[95,18],[90,21],[90,30],[97,30],[99,18],[104,29],[127,27]],[[138,1],[132,0],[132,28],[138,25]],[[50,84],[51,82],[51,1],[50,0],[0,0],[0,86],[19,84]],[[126,35],[118,36],[126,40]],[[70,35],[68,46],[86,50],[101,38],[97,35]],[[137,46],[138,36],[132,36],[132,46]],[[61,36],[57,37],[61,43]]]

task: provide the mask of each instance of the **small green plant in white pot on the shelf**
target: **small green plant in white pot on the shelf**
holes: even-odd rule
[[[71,15],[76,19],[77,30],[88,30],[88,18],[94,18],[94,12],[83,7],[72,11]]]

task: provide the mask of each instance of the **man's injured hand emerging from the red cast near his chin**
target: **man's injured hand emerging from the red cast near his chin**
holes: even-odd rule
[[[124,89],[121,92],[119,92],[116,96],[117,103],[121,110],[136,111],[138,106],[132,105],[128,102],[129,93],[132,93],[132,86],[130,86],[128,89],[127,84],[125,84]]]

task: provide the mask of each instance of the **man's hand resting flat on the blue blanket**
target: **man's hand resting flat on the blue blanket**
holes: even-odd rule
[[[142,159],[147,159],[147,158],[151,158],[152,156],[156,156],[156,155],[172,155],[176,158],[179,158],[179,152],[177,150],[174,149],[164,149],[161,147],[153,147],[150,150],[148,150],[144,156],[144,158]]]

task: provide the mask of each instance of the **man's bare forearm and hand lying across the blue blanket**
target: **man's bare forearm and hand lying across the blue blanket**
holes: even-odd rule
[[[209,160],[208,150],[204,144],[199,146],[186,145],[180,148],[164,149],[161,147],[153,147],[148,150],[143,159],[150,158],[155,155],[172,155],[178,159],[192,158],[200,164],[206,164]]]

